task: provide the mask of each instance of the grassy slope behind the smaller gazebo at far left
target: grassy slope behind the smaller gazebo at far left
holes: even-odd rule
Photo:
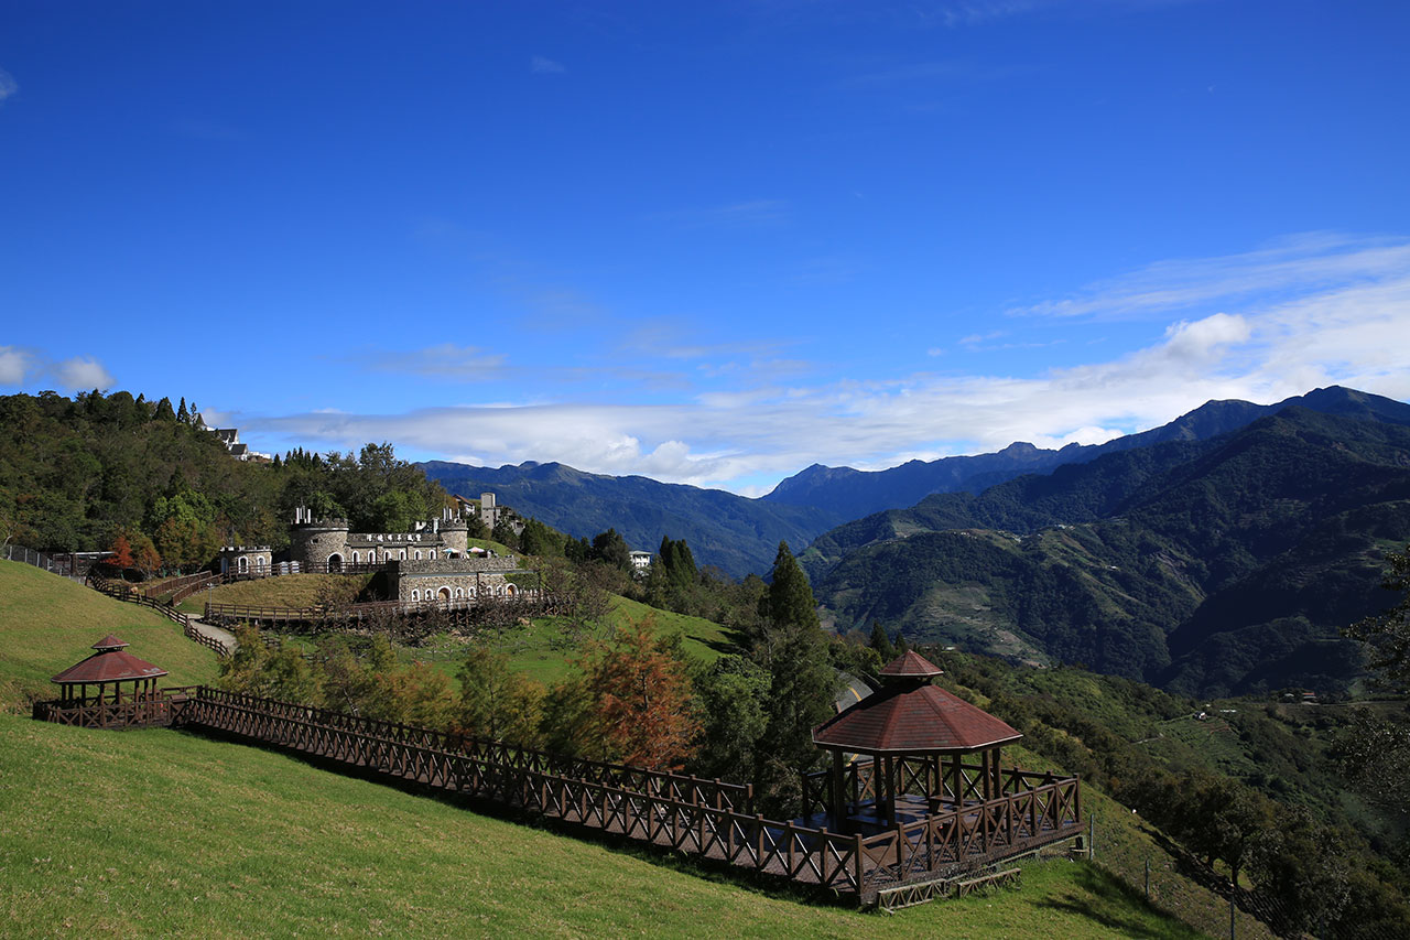
[[[165,669],[164,685],[213,682],[216,655],[157,611],[104,597],[20,562],[0,562],[0,709],[58,696],[49,676],[93,653],[106,634]]]

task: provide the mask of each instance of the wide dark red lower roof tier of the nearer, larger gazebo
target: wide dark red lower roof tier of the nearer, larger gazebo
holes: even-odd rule
[[[883,689],[812,731],[821,747],[871,754],[977,751],[1021,737],[939,686]]]

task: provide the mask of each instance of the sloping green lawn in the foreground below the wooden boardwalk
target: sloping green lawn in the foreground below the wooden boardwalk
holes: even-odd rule
[[[1194,937],[1098,868],[895,916],[808,903],[176,731],[0,717],[0,933]]]

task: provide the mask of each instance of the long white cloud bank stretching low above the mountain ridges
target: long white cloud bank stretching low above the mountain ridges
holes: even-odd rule
[[[392,440],[420,453],[479,454],[492,466],[560,460],[595,473],[756,491],[760,480],[814,462],[885,467],[1014,440],[1097,443],[1213,398],[1273,402],[1337,382],[1410,398],[1410,344],[1402,342],[1410,336],[1410,243],[1325,237],[1321,244],[1321,254],[1301,240],[1294,248],[1152,265],[1120,278],[1139,282],[1144,298],[1228,298],[1252,281],[1258,289],[1237,312],[1172,319],[1135,351],[1039,374],[807,384],[740,370],[735,385],[667,404],[501,402],[247,423],[305,445]],[[1289,253],[1320,274],[1286,264]],[[1156,271],[1166,271],[1169,282]],[[637,340],[687,357],[709,351],[678,343],[670,329]]]

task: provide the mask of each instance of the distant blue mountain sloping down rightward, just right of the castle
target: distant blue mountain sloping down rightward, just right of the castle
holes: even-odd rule
[[[771,505],[723,490],[701,490],[647,477],[609,477],[561,463],[471,467],[433,460],[417,464],[450,493],[494,491],[513,507],[572,538],[615,528],[633,549],[654,552],[663,536],[685,539],[701,565],[733,577],[768,572],[778,542],[802,549],[842,522],[829,511]]]

